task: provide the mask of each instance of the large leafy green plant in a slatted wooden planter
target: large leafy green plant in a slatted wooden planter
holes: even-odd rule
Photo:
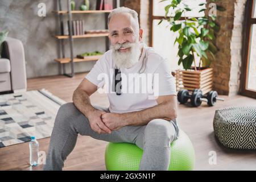
[[[167,1],[167,0],[164,0]],[[217,6],[217,0],[210,0],[214,3],[213,8],[225,11],[224,7]],[[163,2],[163,1],[160,1]],[[170,4],[165,6],[167,20],[172,32],[178,32],[175,44],[178,44],[179,57],[178,65],[182,63],[184,69],[176,71],[176,86],[180,88],[194,90],[201,89],[203,94],[212,90],[213,69],[209,68],[211,61],[215,59],[218,48],[214,44],[217,32],[220,31],[220,25],[216,22],[216,15],[208,14],[202,17],[186,17],[188,11],[192,9],[185,4],[184,0],[171,0]],[[199,13],[205,11],[207,3],[200,3]],[[169,12],[175,11],[174,16],[168,17]],[[184,16],[182,16],[184,15]],[[181,20],[182,18],[182,20]],[[196,64],[196,56],[199,57],[199,63]]]

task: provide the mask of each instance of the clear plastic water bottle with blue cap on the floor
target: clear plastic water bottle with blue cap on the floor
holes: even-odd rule
[[[31,136],[30,141],[30,165],[38,165],[38,152],[39,152],[39,143],[34,136]]]

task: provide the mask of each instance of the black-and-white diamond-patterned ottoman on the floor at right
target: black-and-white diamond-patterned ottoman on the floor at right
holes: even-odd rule
[[[226,147],[256,150],[256,107],[216,110],[213,129]]]

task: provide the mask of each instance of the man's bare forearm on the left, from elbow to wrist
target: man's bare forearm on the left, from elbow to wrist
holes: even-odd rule
[[[90,104],[90,97],[84,90],[76,89],[73,93],[73,103],[80,110],[85,117],[89,118],[89,115],[96,109]]]

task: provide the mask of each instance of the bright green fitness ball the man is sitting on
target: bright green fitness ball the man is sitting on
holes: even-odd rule
[[[109,143],[105,150],[108,171],[138,171],[143,150],[131,143]],[[169,171],[191,171],[195,166],[195,151],[188,136],[180,131],[171,143]]]

